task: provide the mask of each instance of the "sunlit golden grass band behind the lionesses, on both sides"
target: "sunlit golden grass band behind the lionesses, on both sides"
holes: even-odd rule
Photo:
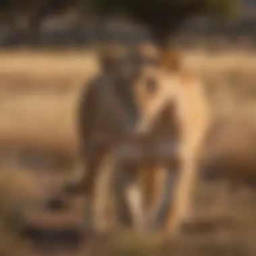
[[[195,69],[207,81],[206,90],[214,100],[214,111],[255,115],[254,99],[247,97],[247,102],[243,100],[236,110],[237,104],[230,98],[243,96],[241,92],[247,91],[251,96],[256,55],[185,53],[185,56],[189,69]],[[75,145],[77,96],[84,81],[97,70],[93,55],[10,52],[0,53],[0,57],[0,140],[8,141],[14,136],[15,142],[20,137],[30,143],[49,140],[49,145],[55,140],[62,141],[60,148],[64,140],[68,141],[67,147]]]

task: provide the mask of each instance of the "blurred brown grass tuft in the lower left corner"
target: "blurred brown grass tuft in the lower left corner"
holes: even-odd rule
[[[24,244],[20,241],[19,230],[24,222],[24,209],[36,190],[34,179],[27,172],[17,168],[1,167],[0,177],[0,253],[14,254]]]

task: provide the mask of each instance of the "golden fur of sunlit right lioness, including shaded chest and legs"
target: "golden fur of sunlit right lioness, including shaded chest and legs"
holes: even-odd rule
[[[135,96],[143,115],[138,133],[119,140],[114,147],[120,175],[117,194],[121,195],[121,190],[130,179],[139,185],[139,190],[134,191],[137,194],[133,193],[136,200],[133,205],[130,202],[129,209],[125,206],[128,203],[125,197],[119,198],[118,205],[122,209],[126,208],[123,216],[132,212],[133,224],[139,229],[148,228],[151,224],[159,227],[161,220],[158,218],[163,218],[164,214],[160,209],[167,207],[168,210],[168,205],[172,208],[168,213],[166,228],[172,233],[178,231],[185,218],[191,214],[191,196],[197,179],[197,158],[203,144],[203,135],[210,123],[210,113],[199,79],[183,69],[182,61],[179,65],[172,65],[177,63],[177,56],[179,58],[177,53],[169,52],[164,61],[159,59],[158,66],[142,68],[135,86]],[[154,93],[148,92],[148,79],[156,82]],[[166,149],[161,152],[166,142],[169,145],[167,154]],[[164,177],[166,168],[169,172]],[[175,181],[176,172],[179,172],[180,179],[176,185],[174,202],[170,197],[169,203],[158,205],[160,199],[166,197],[162,195],[162,188],[166,183],[162,179]],[[171,188],[164,187],[164,193],[166,191],[172,193]],[[138,206],[139,203],[141,207]],[[124,223],[124,219],[122,222]]]

